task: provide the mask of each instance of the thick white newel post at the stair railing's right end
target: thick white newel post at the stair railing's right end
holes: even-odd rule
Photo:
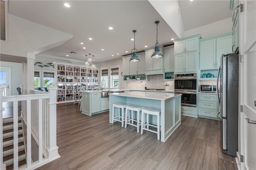
[[[50,93],[50,102],[49,105],[49,111],[48,111],[48,126],[49,126],[49,145],[48,145],[48,155],[49,160],[54,160],[56,158],[59,158],[60,155],[58,154],[58,147],[57,147],[57,129],[56,129],[56,92],[57,87],[52,86],[48,87],[48,92]]]

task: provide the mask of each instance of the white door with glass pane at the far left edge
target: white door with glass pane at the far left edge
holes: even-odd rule
[[[11,72],[12,68],[10,67],[0,67],[0,86],[4,87],[4,96],[12,95]]]

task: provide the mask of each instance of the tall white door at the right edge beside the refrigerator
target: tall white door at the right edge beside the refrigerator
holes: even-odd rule
[[[244,156],[240,169],[256,169],[256,1],[241,0],[244,12],[240,12],[239,51],[240,63],[240,154]],[[246,121],[250,119],[251,123]]]

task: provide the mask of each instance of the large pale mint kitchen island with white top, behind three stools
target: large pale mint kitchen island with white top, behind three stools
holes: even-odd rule
[[[161,109],[161,141],[168,137],[181,124],[181,94],[156,93],[156,92],[124,92],[109,94],[109,123],[112,120],[112,104],[125,103],[136,106]],[[114,111],[118,114],[118,109]],[[156,118],[150,117],[150,123],[156,125]]]

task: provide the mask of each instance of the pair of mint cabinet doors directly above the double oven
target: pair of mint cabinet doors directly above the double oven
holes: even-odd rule
[[[198,52],[175,55],[175,72],[196,72]]]

